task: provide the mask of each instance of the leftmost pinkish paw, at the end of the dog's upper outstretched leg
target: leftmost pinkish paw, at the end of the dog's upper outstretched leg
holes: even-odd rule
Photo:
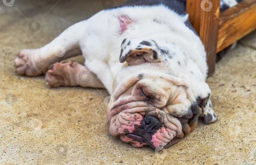
[[[36,76],[43,74],[42,70],[38,70],[35,67],[35,63],[32,62],[33,56],[36,56],[35,49],[23,49],[17,54],[17,58],[14,60],[15,71],[20,75]]]

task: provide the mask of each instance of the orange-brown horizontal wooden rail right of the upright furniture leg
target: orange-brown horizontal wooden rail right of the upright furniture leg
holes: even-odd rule
[[[256,0],[247,0],[220,14],[217,52],[256,30]]]

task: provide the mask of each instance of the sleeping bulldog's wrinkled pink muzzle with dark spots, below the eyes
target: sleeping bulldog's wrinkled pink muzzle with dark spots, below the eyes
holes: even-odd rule
[[[145,123],[146,116],[158,119],[162,123],[161,126],[149,126],[145,130],[146,125],[150,124],[150,122]],[[107,126],[111,135],[120,136],[122,141],[131,143],[134,147],[150,145],[152,148],[158,148],[167,145],[176,137],[177,132],[181,131],[178,119],[177,123],[170,123],[170,117],[166,116],[164,111],[149,106],[144,101],[137,101],[134,97],[124,97],[116,101],[111,109]],[[152,132],[150,129],[154,127],[158,127],[158,130],[152,129]]]

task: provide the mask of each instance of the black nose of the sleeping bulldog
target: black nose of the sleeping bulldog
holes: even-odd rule
[[[145,117],[145,131],[148,133],[151,133],[152,131],[155,131],[159,129],[161,126],[160,121],[154,117],[154,116],[146,116]]]

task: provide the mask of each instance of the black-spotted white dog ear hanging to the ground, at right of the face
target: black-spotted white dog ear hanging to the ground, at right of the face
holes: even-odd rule
[[[204,123],[209,124],[218,120],[215,112],[212,109],[211,104],[211,91],[207,83],[201,83],[202,88],[199,91],[200,96],[197,98],[198,106],[202,109],[202,113],[204,115]]]

